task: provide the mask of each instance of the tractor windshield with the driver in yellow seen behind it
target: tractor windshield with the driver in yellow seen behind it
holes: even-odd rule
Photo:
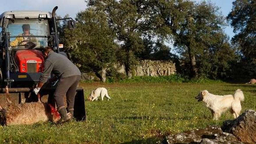
[[[10,46],[13,48],[47,47],[47,20],[9,20],[6,31],[10,33]]]

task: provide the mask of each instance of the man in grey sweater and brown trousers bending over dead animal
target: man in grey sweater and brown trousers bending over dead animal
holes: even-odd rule
[[[33,91],[36,95],[38,94],[51,72],[60,79],[54,92],[54,99],[58,112],[61,114],[58,124],[61,124],[70,120],[71,117],[68,117],[67,113],[71,113],[72,116],[74,114],[74,98],[78,82],[81,79],[81,72],[66,56],[55,53],[50,47],[46,47],[43,54],[45,56],[44,71]],[[65,95],[67,97],[67,109],[64,103]]]

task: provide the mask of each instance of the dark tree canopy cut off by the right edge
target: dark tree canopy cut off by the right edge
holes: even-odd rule
[[[232,41],[239,45],[243,58],[256,59],[256,1],[236,0],[227,19],[234,28]]]

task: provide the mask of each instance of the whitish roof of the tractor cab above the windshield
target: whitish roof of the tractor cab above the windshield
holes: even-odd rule
[[[3,26],[3,18],[6,17],[6,15],[14,15],[15,19],[37,19],[39,18],[39,14],[46,14],[47,18],[51,18],[51,14],[49,12],[40,10],[6,11],[0,15],[0,26]]]

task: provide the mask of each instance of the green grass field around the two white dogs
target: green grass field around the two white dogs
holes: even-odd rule
[[[156,143],[168,134],[233,119],[228,112],[220,120],[194,98],[200,90],[225,95],[243,90],[242,111],[256,110],[256,85],[230,83],[80,83],[86,97],[104,86],[110,101],[86,101],[87,120],[64,125],[51,122],[0,127],[0,143]]]

